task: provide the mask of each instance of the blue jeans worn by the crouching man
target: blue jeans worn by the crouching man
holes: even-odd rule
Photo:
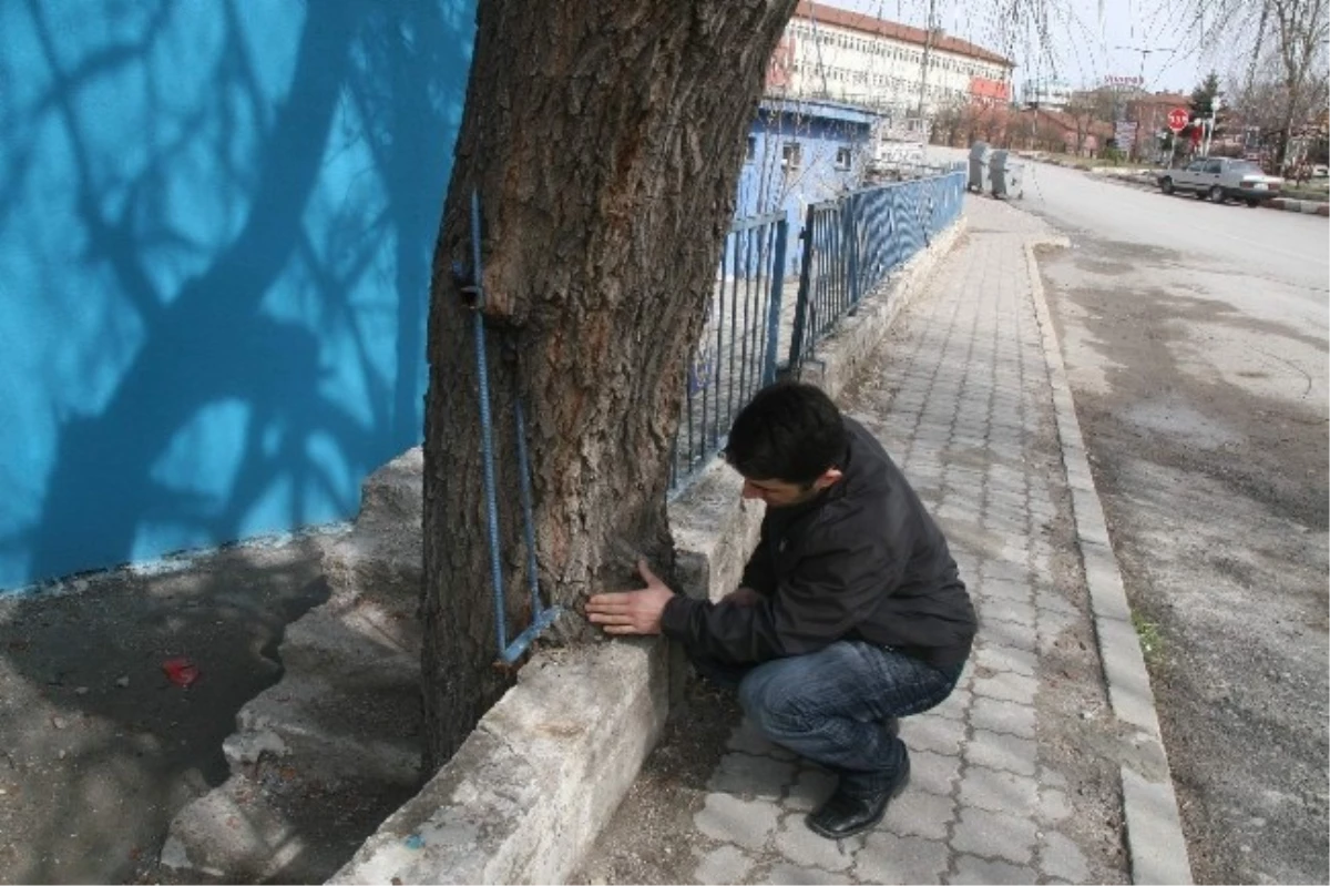
[[[759,665],[696,657],[693,665],[737,686],[743,713],[769,741],[837,772],[855,796],[886,790],[904,765],[906,745],[886,724],[940,704],[964,666],[935,668],[858,640]]]

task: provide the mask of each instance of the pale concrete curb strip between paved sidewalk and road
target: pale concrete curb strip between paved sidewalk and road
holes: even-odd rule
[[[1160,734],[1145,657],[1132,624],[1132,611],[1123,587],[1123,575],[1108,535],[1104,508],[1095,488],[1085,440],[1076,418],[1072,388],[1067,380],[1057,330],[1053,327],[1039,275],[1035,246],[1065,246],[1064,239],[1032,239],[1025,243],[1035,311],[1044,341],[1044,361],[1053,388],[1057,436],[1072,492],[1076,537],[1085,567],[1095,633],[1108,697],[1117,720],[1134,734],[1130,737],[1140,758],[1121,765],[1123,809],[1127,818],[1127,846],[1136,886],[1189,886],[1192,866],[1182,835],[1182,819],[1173,793],[1173,776]]]

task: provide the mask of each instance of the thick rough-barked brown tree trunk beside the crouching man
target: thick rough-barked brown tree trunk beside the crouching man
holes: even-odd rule
[[[672,565],[665,520],[682,367],[730,222],[745,133],[795,0],[481,0],[435,251],[426,415],[426,765],[511,678],[495,668],[469,265],[484,306],[515,632],[528,617],[513,396],[529,426],[540,584],[573,611]],[[517,359],[505,357],[509,353]],[[548,599],[548,597],[547,597]],[[580,616],[564,639],[589,639]]]

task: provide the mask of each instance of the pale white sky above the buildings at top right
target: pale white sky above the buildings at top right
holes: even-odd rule
[[[1045,3],[1049,23],[1043,52],[1033,33],[1015,33],[1001,20],[999,9],[1008,8],[1011,0],[936,0],[936,8],[947,33],[1008,55],[1017,64],[1017,82],[1037,76],[1089,86],[1108,74],[1140,76],[1141,53],[1119,47],[1158,49],[1145,57],[1145,85],[1152,90],[1189,93],[1208,71],[1194,39],[1189,39],[1185,4],[1177,0]],[[915,27],[923,27],[928,15],[928,0],[829,0],[823,5]]]

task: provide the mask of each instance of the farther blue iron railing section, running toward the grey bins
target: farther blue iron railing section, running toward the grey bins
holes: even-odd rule
[[[866,188],[809,206],[789,365],[802,366],[859,301],[960,216],[960,172]]]

